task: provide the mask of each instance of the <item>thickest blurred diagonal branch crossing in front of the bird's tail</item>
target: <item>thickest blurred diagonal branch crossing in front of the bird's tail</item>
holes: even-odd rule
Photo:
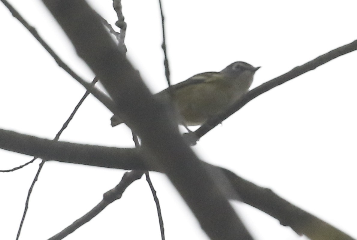
[[[211,239],[252,239],[167,113],[84,0],[43,0]],[[116,113],[116,112],[115,112]]]

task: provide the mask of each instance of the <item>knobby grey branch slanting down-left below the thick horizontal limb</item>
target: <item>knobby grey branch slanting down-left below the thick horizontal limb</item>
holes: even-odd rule
[[[48,240],[60,240],[60,239],[63,239],[67,235],[73,233],[76,229],[80,228],[85,223],[89,222],[92,218],[94,218],[102,210],[104,210],[106,206],[108,206],[109,204],[111,204],[115,200],[120,199],[120,197],[122,196],[122,194],[125,191],[125,189],[132,182],[134,182],[137,179],[140,179],[143,173],[144,172],[142,172],[142,171],[126,172],[124,174],[124,176],[122,177],[121,181],[119,182],[119,184],[116,185],[110,191],[107,191],[103,195],[103,200],[100,201],[99,204],[97,204],[92,210],[87,212],[81,218],[77,219],[74,223],[69,225],[67,228],[63,229],[60,233],[57,233],[56,235],[54,235],[52,238],[49,238]]]

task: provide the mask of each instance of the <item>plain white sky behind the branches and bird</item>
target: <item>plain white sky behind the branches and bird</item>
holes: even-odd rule
[[[112,1],[90,1],[114,25]],[[11,4],[87,81],[93,74],[38,0]],[[153,92],[166,85],[157,1],[123,0],[130,60]],[[234,61],[262,66],[253,87],[357,39],[356,1],[164,1],[171,80],[177,83]],[[0,128],[53,139],[85,90],[0,4]],[[357,52],[339,57],[249,102],[193,147],[202,160],[271,188],[286,200],[357,238]],[[60,140],[133,146],[126,126],[88,97]],[[0,150],[0,169],[30,156]],[[0,239],[15,239],[34,164],[0,173]],[[47,239],[89,211],[124,171],[47,162],[31,195],[20,239]],[[166,239],[207,239],[163,174],[152,173]],[[257,240],[300,238],[245,204],[232,202]],[[71,239],[159,239],[156,208],[136,181]]]

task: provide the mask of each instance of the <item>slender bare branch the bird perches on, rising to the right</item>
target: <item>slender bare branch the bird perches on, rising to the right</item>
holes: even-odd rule
[[[252,89],[240,100],[238,100],[232,107],[227,109],[227,111],[213,117],[212,119],[208,120],[205,124],[203,124],[199,129],[197,129],[194,132],[194,135],[196,136],[196,140],[200,139],[200,137],[202,137],[208,131],[213,129],[213,127],[220,124],[223,120],[227,119],[227,117],[231,116],[233,113],[235,113],[236,111],[241,109],[244,105],[246,105],[249,101],[263,94],[264,92],[267,92],[270,89],[273,89],[274,87],[283,84],[284,82],[287,82],[297,76],[300,76],[305,72],[314,70],[316,69],[316,67],[321,66],[322,64],[325,64],[326,62],[329,62],[332,59],[335,59],[339,56],[342,56],[344,54],[350,53],[355,50],[357,50],[357,40],[353,41],[350,44],[346,44],[344,46],[336,48],[326,54],[323,54],[317,57],[316,59],[307,62],[306,64],[297,66],[291,71],[287,72],[286,74],[278,76],[275,79],[267,81],[262,85],[256,87],[255,89]]]

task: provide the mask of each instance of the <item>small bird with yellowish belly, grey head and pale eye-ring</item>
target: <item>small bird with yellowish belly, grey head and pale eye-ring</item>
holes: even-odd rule
[[[246,94],[259,68],[242,61],[233,62],[220,72],[196,74],[154,96],[172,104],[179,124],[186,128],[202,125]],[[119,117],[111,117],[111,126],[121,123]]]

